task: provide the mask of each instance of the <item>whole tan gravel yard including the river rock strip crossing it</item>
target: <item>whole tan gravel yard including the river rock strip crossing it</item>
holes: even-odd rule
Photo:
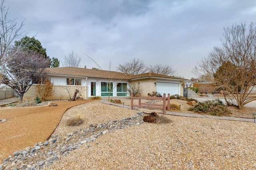
[[[83,125],[67,127],[77,115]],[[136,110],[81,104],[64,113],[48,141],[15,152],[0,169],[256,169],[256,124],[166,117],[172,123],[143,123]]]

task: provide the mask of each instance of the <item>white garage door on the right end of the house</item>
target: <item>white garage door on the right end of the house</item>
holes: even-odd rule
[[[170,93],[171,96],[174,94],[180,95],[178,83],[156,82],[156,91],[162,95],[165,93],[166,96],[168,93]]]

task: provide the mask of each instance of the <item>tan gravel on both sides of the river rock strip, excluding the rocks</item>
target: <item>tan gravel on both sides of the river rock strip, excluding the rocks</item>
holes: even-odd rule
[[[81,104],[64,113],[54,134],[65,138],[67,133],[91,123],[120,120],[136,113],[98,101]],[[84,124],[66,127],[66,119],[77,114]],[[254,123],[166,117],[172,123],[143,123],[103,134],[47,169],[256,169]]]

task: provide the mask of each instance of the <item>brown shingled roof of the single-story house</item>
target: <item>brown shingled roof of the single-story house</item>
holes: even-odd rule
[[[88,77],[88,78],[111,78],[111,79],[122,79],[122,80],[132,80],[132,79],[143,79],[143,78],[170,78],[170,79],[178,79],[178,80],[187,80],[184,78],[178,78],[173,76],[166,76],[162,74],[155,74],[152,72],[130,75],[122,72],[116,71],[107,71],[107,70],[96,70],[89,68],[78,68],[78,67],[53,67],[46,68],[46,72],[48,75],[56,75],[56,76],[79,76],[79,77]]]

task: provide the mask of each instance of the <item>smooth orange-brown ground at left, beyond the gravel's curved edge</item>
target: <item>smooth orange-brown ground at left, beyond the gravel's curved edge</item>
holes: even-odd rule
[[[0,119],[7,120],[0,123],[0,164],[14,151],[46,141],[68,108],[90,101],[56,101],[52,103],[58,106],[0,109]]]

